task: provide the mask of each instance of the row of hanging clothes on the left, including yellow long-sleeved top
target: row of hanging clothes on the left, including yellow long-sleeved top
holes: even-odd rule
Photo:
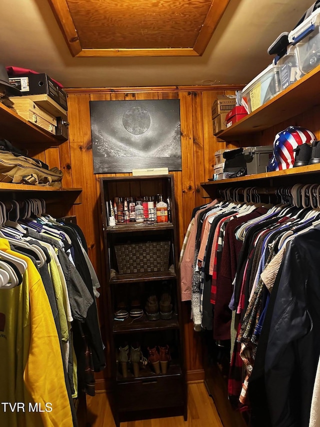
[[[31,358],[33,357],[33,365],[35,355],[37,357],[40,377],[41,366],[43,366],[42,363],[44,363],[44,360],[41,360],[41,357],[44,354],[47,355],[45,362],[51,363],[50,366],[52,368],[50,374],[46,377],[47,383],[45,389],[40,388],[40,382],[40,386],[34,386],[34,381],[37,381],[37,378],[35,377],[38,376],[34,375],[34,368],[31,373],[29,372],[29,374],[26,375],[27,380],[23,379],[25,378],[25,376],[22,375],[24,371],[20,369],[20,371],[16,373],[17,381],[19,382],[21,389],[24,387],[26,390],[29,390],[30,384],[33,384],[33,390],[35,390],[37,396],[41,397],[41,399],[43,396],[47,397],[46,400],[45,397],[43,397],[43,401],[50,401],[50,398],[48,397],[48,390],[51,386],[56,388],[56,390],[59,390],[58,394],[54,394],[53,391],[51,391],[51,393],[49,392],[49,394],[51,396],[54,394],[55,397],[52,397],[52,401],[54,401],[55,398],[54,405],[56,408],[59,406],[59,413],[63,415],[52,411],[50,412],[50,414],[53,415],[52,421],[48,421],[50,414],[49,412],[43,411],[43,415],[27,415],[28,418],[26,419],[26,423],[30,425],[42,425],[39,418],[41,416],[43,425],[46,425],[46,422],[53,422],[62,425],[62,422],[65,421],[68,422],[68,425],[84,427],[84,425],[88,425],[86,418],[85,392],[90,395],[94,395],[93,368],[98,371],[103,369],[105,366],[103,344],[98,328],[96,303],[94,301],[94,296],[98,296],[96,288],[99,284],[87,254],[85,254],[85,239],[79,227],[76,226],[75,217],[67,217],[67,224],[62,224],[60,220],[59,222],[56,222],[54,218],[50,217],[45,212],[46,202],[39,198],[27,198],[19,201],[0,201],[0,335],[2,337],[6,336],[7,339],[10,338],[11,340],[11,337],[9,336],[11,333],[8,329],[10,327],[9,325],[11,324],[11,320],[9,323],[8,319],[15,315],[12,310],[10,310],[11,301],[15,306],[17,306],[17,304],[21,305],[21,307],[29,305],[29,312],[37,313],[37,320],[33,320],[31,317],[28,320],[28,324],[30,324],[29,335],[32,337],[32,340],[29,341],[27,336],[24,342],[25,338],[23,337],[23,345],[29,345],[29,348],[31,348],[32,345],[32,349],[29,354],[31,354]],[[43,234],[41,234],[42,223]],[[33,228],[32,224],[34,224]],[[53,236],[54,232],[56,233],[56,237]],[[57,238],[58,234],[60,234],[60,241]],[[49,243],[51,242],[53,247],[49,248]],[[56,246],[54,246],[55,244]],[[71,248],[72,250],[70,250]],[[53,258],[55,251],[56,257]],[[10,256],[11,264],[9,263]],[[26,262],[27,258],[29,258],[29,260]],[[56,264],[56,266],[51,265],[52,262]],[[78,267],[79,264],[85,264],[87,274],[84,273],[83,275],[84,270],[82,270],[81,267]],[[21,267],[20,271],[18,271],[19,265]],[[10,268],[12,269],[11,276],[7,274]],[[46,269],[47,276],[45,276],[45,272],[43,270],[41,271],[41,269]],[[73,278],[71,275],[67,276],[67,272],[71,272],[71,270],[73,271],[73,273],[71,273]],[[15,276],[14,273],[16,273]],[[64,276],[64,285],[62,284],[61,275]],[[24,278],[24,276],[27,277]],[[18,278],[18,281],[15,283],[13,283],[14,277]],[[58,277],[60,277],[60,279],[58,279]],[[3,278],[9,279],[7,283],[4,282]],[[57,285],[57,281],[59,281],[60,285]],[[78,285],[80,286],[78,287]],[[49,290],[50,286],[51,291]],[[23,288],[25,290],[21,293],[20,289]],[[37,289],[36,298],[34,293],[31,295],[32,289],[35,288]],[[10,292],[9,289],[13,293]],[[60,293],[58,294],[57,291]],[[29,293],[29,299],[28,304],[25,304],[24,299],[21,299],[24,297],[21,297],[20,295],[27,293]],[[62,295],[64,295],[63,304]],[[69,298],[67,298],[67,296]],[[65,303],[65,298],[66,300],[69,300],[67,303]],[[81,302],[81,299],[83,299],[83,302]],[[60,301],[59,304],[58,300]],[[39,310],[43,310],[43,315],[39,315]],[[89,310],[91,310],[90,316]],[[62,317],[61,313],[63,313]],[[29,313],[25,314],[25,316],[29,316]],[[63,316],[65,316],[65,322],[63,320]],[[43,320],[41,320],[42,317]],[[15,320],[13,321],[15,322]],[[12,325],[15,324],[13,321]],[[43,322],[46,322],[43,335],[41,335],[43,329],[40,330],[40,326],[36,328],[37,334],[39,334],[40,337],[42,336],[42,351],[40,352],[36,347],[34,347],[34,345],[36,345],[34,344],[34,342],[36,342],[36,337],[34,337],[32,329],[33,322],[34,325],[37,325],[37,321],[39,325],[42,326]],[[89,321],[91,322],[90,324]],[[19,327],[20,325],[17,324],[14,327],[14,330],[19,330]],[[45,333],[46,328],[48,334]],[[69,333],[66,334],[66,331]],[[49,337],[48,342],[46,341],[47,337]],[[94,343],[92,339],[94,340]],[[67,349],[68,347],[69,349]],[[52,355],[54,354],[54,356],[48,356],[48,350]],[[96,350],[98,350],[97,353]],[[26,356],[27,347],[25,347],[23,352],[26,357],[25,366],[27,368],[28,364],[32,363],[30,362],[29,355]],[[71,353],[73,356],[70,357],[69,355]],[[0,358],[4,363],[4,366],[5,363],[11,363],[10,358],[7,358],[5,346],[1,347]],[[77,374],[78,369],[80,369],[81,380],[79,380],[79,376],[77,374],[73,376],[72,358],[77,362],[77,365],[74,365]],[[20,364],[18,364],[18,366],[20,366]],[[81,366],[81,368],[79,368],[79,366]],[[87,370],[87,367],[90,368],[90,371]],[[8,383],[4,373],[6,371],[10,372],[11,369],[4,368],[2,370],[4,376],[2,375],[3,378],[1,377],[1,383],[3,385],[2,394],[0,392],[1,399],[7,401],[23,401],[21,400],[22,396],[16,396],[14,387],[12,388],[9,385],[14,383],[14,381],[10,381]],[[55,375],[54,381],[52,381],[52,375]],[[74,388],[75,391],[72,391],[73,384],[76,385]],[[32,386],[30,389],[32,389]],[[57,396],[62,395],[64,396],[63,401],[60,401],[60,397]],[[32,399],[37,402],[37,400],[34,399],[32,392],[31,396]],[[76,412],[78,416],[76,416],[75,413],[77,407],[78,410]],[[41,412],[42,410],[43,408],[41,407]],[[6,414],[4,414],[4,416],[6,416]],[[61,418],[62,416],[64,417],[63,419]],[[44,421],[43,417],[47,418],[47,421]],[[78,421],[76,418],[78,418]],[[11,425],[9,419],[2,419],[0,416],[0,424],[2,425],[2,423],[3,425]]]

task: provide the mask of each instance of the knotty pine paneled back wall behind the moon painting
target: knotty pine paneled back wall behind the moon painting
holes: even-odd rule
[[[101,222],[101,199],[99,178],[94,175],[92,142],[90,131],[89,101],[179,99],[181,118],[182,171],[172,172],[174,176],[175,203],[178,218],[178,240],[181,246],[184,233],[190,221],[192,209],[203,203],[200,182],[212,177],[214,152],[225,148],[212,134],[211,106],[217,94],[234,94],[237,87],[195,87],[195,88],[136,88],[136,89],[71,89],[68,90],[69,145],[64,147],[70,153],[71,182],[73,187],[82,187],[82,204],[74,206],[79,226],[84,231],[89,257],[101,283],[99,317],[103,341],[108,353],[108,334],[105,324],[106,304],[104,283],[104,253]],[[53,153],[52,153],[53,156]],[[68,179],[68,178],[67,178]],[[183,304],[185,330],[185,361],[188,379],[203,378],[201,344],[198,332],[193,331],[190,307]],[[110,376],[109,366],[97,375],[97,385],[104,388],[103,378]]]

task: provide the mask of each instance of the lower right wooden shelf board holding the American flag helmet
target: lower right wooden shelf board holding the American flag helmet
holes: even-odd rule
[[[291,168],[291,169],[285,169],[283,171],[274,171],[274,172],[264,172],[262,174],[254,174],[254,175],[245,175],[241,176],[239,178],[229,178],[229,179],[220,179],[217,181],[207,181],[202,182],[201,186],[203,188],[210,187],[210,186],[218,186],[218,185],[225,185],[230,183],[240,183],[240,182],[247,182],[247,181],[256,181],[256,180],[266,180],[270,178],[275,178],[280,180],[281,178],[290,177],[291,175],[294,175],[294,177],[298,176],[305,176],[309,174],[319,174],[320,173],[320,164],[317,165],[308,165],[308,166],[300,166],[298,168]],[[297,182],[296,179],[294,179],[294,182]]]

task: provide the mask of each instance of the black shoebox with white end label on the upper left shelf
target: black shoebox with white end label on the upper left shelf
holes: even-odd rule
[[[9,82],[19,89],[22,95],[46,94],[64,110],[67,110],[66,93],[44,73],[9,76]]]

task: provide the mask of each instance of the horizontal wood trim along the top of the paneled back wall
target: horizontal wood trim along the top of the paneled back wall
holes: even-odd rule
[[[63,88],[68,94],[112,94],[112,93],[146,93],[146,92],[205,92],[205,91],[238,91],[244,85],[214,85],[214,86],[141,86],[136,88]]]

